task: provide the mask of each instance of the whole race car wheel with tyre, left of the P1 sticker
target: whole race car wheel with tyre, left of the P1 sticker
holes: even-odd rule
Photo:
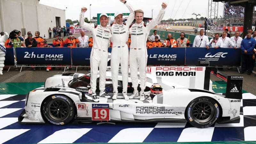
[[[46,121],[54,125],[68,124],[75,116],[76,107],[64,95],[52,95],[42,104],[41,113]]]

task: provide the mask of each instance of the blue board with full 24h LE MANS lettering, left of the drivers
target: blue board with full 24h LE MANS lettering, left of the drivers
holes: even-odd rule
[[[18,65],[71,65],[71,49],[68,47],[16,47],[16,57]]]

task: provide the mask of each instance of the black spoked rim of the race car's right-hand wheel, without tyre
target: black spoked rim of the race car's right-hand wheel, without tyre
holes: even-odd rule
[[[192,107],[191,117],[199,124],[205,124],[211,121],[215,115],[215,108],[212,103],[208,101],[200,101]]]

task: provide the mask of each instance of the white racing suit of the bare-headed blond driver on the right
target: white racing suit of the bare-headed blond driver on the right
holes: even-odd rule
[[[129,56],[129,65],[131,71],[132,87],[137,89],[138,87],[138,65],[140,72],[140,88],[141,92],[144,92],[146,87],[146,68],[148,52],[146,47],[146,41],[148,34],[152,28],[154,28],[164,17],[165,9],[161,9],[156,19],[150,21],[146,26],[146,23],[140,24],[134,23],[129,29],[131,34],[131,47]]]

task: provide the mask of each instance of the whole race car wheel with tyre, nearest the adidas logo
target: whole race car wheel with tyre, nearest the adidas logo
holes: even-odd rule
[[[185,111],[185,117],[191,125],[199,128],[210,127],[220,116],[220,109],[215,100],[198,97],[192,100]]]

